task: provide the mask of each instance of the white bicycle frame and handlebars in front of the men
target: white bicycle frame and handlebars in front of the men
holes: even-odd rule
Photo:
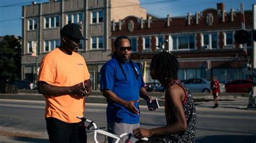
[[[93,127],[94,127],[94,129],[93,129],[93,130],[94,130],[94,136],[93,136],[93,138],[94,138],[94,141],[95,141],[96,143],[99,142],[99,141],[97,140],[97,133],[100,133],[100,134],[106,135],[107,137],[111,137],[111,138],[116,139],[116,143],[119,142],[119,140],[120,140],[122,137],[124,137],[125,135],[129,135],[129,134],[130,134],[130,133],[122,133],[122,134],[120,134],[120,135],[118,136],[118,135],[116,135],[116,134],[112,134],[112,133],[106,132],[106,131],[104,131],[104,130],[100,130],[100,128],[97,127],[97,125],[96,125],[96,123],[95,123],[94,121],[91,121],[91,120],[89,120],[89,119],[86,119],[86,118],[80,117],[80,116],[77,116],[77,118],[82,119],[83,121],[86,121],[87,123],[91,123],[91,124],[93,125]],[[134,136],[133,134],[131,134],[131,137],[135,137],[135,136]],[[141,140],[147,141],[148,139],[147,139],[147,138],[142,138]]]

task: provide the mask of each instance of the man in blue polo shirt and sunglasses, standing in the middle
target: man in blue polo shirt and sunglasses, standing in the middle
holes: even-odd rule
[[[130,40],[125,35],[114,40],[112,59],[100,69],[100,91],[107,98],[107,127],[111,133],[131,133],[139,127],[139,96],[152,101],[144,88],[139,68],[131,59]],[[114,142],[109,137],[109,142]],[[131,138],[131,142],[137,139]]]

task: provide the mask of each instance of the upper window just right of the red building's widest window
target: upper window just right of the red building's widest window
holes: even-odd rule
[[[203,34],[203,46],[207,49],[217,48],[217,33],[205,33]]]

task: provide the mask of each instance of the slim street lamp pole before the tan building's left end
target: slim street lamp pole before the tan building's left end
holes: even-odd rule
[[[25,20],[24,17],[21,17],[21,19]],[[35,22],[35,19],[31,19],[31,18],[28,18],[28,19],[32,20],[32,22]],[[36,19],[36,23],[37,23],[37,27],[36,27],[36,41],[32,41],[31,42],[31,45],[32,45],[31,56],[36,58],[36,76],[34,76],[35,83],[37,82],[37,74],[38,74],[38,71],[37,71],[37,69],[38,69],[37,55],[38,55],[38,49],[39,49],[39,46],[40,46],[40,42],[39,42],[39,18]],[[33,26],[35,26],[35,24],[33,24]],[[34,73],[34,71],[33,71],[33,73]]]

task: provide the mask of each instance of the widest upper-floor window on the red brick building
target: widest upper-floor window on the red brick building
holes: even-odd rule
[[[173,50],[179,49],[194,49],[194,35],[175,35],[173,39]]]

